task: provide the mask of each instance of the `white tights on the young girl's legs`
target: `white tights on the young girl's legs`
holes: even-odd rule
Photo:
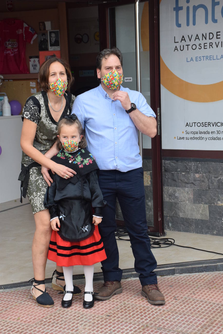
[[[94,276],[94,265],[83,266],[84,276],[85,276],[85,291],[93,291],[93,276]],[[73,266],[63,267],[64,279],[66,283],[66,291],[74,291],[73,286]],[[63,300],[70,300],[72,298],[71,293],[66,293]],[[86,302],[92,301],[92,295],[84,295],[84,300]]]

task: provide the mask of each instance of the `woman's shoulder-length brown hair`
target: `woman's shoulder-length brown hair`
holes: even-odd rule
[[[67,89],[70,89],[72,82],[74,81],[74,78],[71,74],[70,65],[66,63],[65,60],[56,57],[49,58],[48,60],[44,61],[44,63],[42,63],[39,68],[39,87],[45,92],[47,92],[49,89],[49,66],[55,61],[58,61],[65,67],[68,81]]]

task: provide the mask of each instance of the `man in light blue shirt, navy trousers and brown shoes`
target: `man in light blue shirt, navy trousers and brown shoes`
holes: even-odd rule
[[[153,272],[157,264],[147,234],[142,159],[138,147],[138,130],[149,137],[156,135],[155,114],[141,93],[121,86],[122,54],[118,48],[101,51],[96,64],[101,84],[79,95],[72,109],[85,128],[88,149],[99,166],[99,185],[107,201],[99,225],[107,255],[102,262],[105,282],[95,298],[107,300],[122,292],[122,270],[115,239],[118,198],[132,245],[135,271],[140,274],[141,293],[151,304],[164,304]]]

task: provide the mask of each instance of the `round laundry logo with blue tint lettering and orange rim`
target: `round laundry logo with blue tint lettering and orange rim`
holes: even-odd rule
[[[223,0],[160,0],[161,85],[194,102],[223,100]]]

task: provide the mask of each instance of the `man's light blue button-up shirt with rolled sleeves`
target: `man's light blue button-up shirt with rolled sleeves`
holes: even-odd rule
[[[146,116],[155,117],[143,95],[120,87],[130,101]],[[75,113],[85,128],[88,150],[99,169],[127,172],[142,166],[139,155],[138,130],[120,101],[113,101],[101,85],[79,95],[73,104]]]

